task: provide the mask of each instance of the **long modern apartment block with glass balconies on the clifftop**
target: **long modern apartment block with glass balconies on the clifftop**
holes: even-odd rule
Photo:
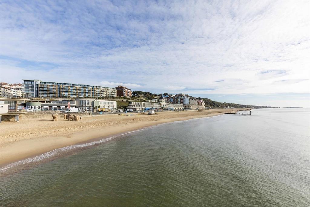
[[[26,98],[91,98],[116,97],[116,89],[72,83],[43,82],[23,80]]]

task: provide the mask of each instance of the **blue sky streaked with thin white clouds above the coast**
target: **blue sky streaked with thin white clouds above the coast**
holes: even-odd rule
[[[309,1],[0,1],[0,82],[310,107]]]

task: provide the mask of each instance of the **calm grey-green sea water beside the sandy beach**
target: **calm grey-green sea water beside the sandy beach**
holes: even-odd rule
[[[309,118],[162,124],[1,176],[1,206],[309,206]]]

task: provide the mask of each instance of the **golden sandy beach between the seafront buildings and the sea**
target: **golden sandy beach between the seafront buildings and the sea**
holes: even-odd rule
[[[242,109],[240,109],[242,110]],[[94,139],[167,122],[219,115],[232,109],[193,111],[165,111],[158,115],[133,113],[82,117],[80,121],[67,121],[60,117],[52,121],[51,115],[24,115],[18,123],[0,124],[0,167],[29,157],[41,155],[61,147],[89,142]],[[235,112],[236,110],[234,110]]]

